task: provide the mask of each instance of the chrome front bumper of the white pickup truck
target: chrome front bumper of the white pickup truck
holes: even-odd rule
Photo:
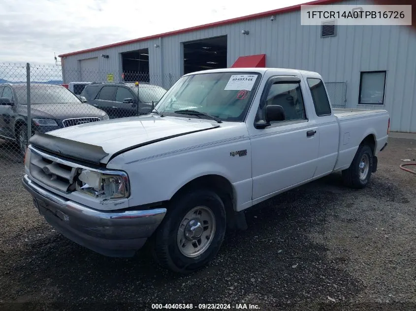
[[[23,177],[34,205],[68,239],[106,256],[132,256],[159,226],[165,208],[98,211],[58,196]]]

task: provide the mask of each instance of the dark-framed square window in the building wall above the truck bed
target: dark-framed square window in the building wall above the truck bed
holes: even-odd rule
[[[385,71],[361,71],[358,104],[384,105]]]

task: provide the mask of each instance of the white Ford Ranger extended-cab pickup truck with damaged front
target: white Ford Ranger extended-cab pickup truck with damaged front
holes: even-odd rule
[[[236,68],[180,78],[152,113],[30,140],[23,185],[41,215],[100,254],[187,273],[256,203],[332,172],[363,188],[387,144],[385,110],[331,109],[318,73]]]

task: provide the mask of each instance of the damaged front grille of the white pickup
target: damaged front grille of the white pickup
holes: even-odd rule
[[[30,171],[34,179],[50,187],[63,192],[75,190],[77,168],[58,163],[53,157],[31,152]]]

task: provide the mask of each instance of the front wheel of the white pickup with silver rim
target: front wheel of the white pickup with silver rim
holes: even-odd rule
[[[225,234],[225,208],[211,190],[192,190],[175,198],[152,237],[153,254],[163,267],[191,273],[220,250]]]

